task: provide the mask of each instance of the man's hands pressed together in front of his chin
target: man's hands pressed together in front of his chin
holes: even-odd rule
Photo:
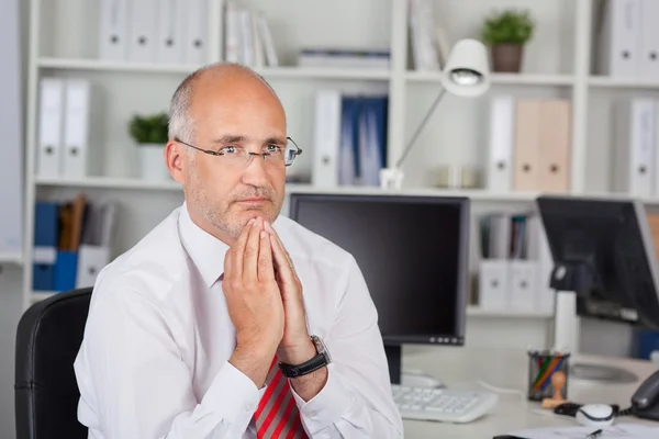
[[[222,283],[236,329],[230,360],[260,387],[275,356],[298,364],[315,354],[306,328],[302,284],[272,226],[253,218],[224,259]]]

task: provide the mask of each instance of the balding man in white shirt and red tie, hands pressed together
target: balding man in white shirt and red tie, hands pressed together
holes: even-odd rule
[[[91,438],[402,437],[359,268],[279,216],[286,126],[242,66],[175,92],[165,156],[186,201],[97,279],[75,363]]]

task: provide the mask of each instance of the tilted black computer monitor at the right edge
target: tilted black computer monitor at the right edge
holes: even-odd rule
[[[659,271],[635,200],[537,199],[554,258],[550,285],[577,294],[580,316],[659,328]]]

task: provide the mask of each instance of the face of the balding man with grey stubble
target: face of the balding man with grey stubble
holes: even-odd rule
[[[200,79],[190,109],[194,139],[202,149],[264,153],[275,142],[286,145],[286,115],[279,100],[257,79]],[[187,139],[181,139],[188,142]],[[237,238],[245,224],[261,216],[273,222],[281,210],[286,167],[268,157],[249,161],[192,151],[185,159],[187,203],[209,226]]]

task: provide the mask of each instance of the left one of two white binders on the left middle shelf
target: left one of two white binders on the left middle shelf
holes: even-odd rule
[[[41,178],[57,178],[62,173],[64,80],[42,78],[40,82],[38,151],[36,173]]]

